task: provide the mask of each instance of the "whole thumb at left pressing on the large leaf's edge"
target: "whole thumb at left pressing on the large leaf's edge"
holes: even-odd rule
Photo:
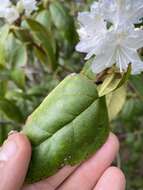
[[[23,134],[10,135],[0,151],[0,190],[19,190],[23,184],[31,146]]]

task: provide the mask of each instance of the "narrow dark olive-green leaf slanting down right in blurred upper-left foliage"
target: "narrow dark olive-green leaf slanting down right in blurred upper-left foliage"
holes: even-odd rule
[[[51,69],[55,70],[57,68],[57,62],[54,55],[54,45],[51,34],[37,21],[27,19],[27,23],[32,30],[35,43],[38,41],[39,45],[44,48],[44,51],[47,54],[48,64],[51,66]]]

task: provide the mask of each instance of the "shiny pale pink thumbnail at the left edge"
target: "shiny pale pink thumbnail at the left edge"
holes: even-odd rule
[[[13,157],[17,152],[17,145],[14,140],[7,140],[1,150],[0,150],[0,162],[8,161]]]

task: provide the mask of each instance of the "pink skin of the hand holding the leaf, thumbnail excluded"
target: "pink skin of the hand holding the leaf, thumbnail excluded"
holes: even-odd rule
[[[10,135],[6,143],[11,141],[15,141],[17,151],[10,160],[0,161],[0,190],[125,190],[124,174],[111,166],[119,150],[117,137],[112,133],[89,160],[78,166],[66,166],[32,185],[23,185],[31,157],[30,143],[21,133]]]

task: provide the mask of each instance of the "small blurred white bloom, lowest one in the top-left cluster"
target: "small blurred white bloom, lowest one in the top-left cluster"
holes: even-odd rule
[[[10,8],[5,9],[4,18],[10,24],[12,24],[13,22],[15,22],[19,18],[19,13],[18,13],[17,9],[14,6],[12,6]]]

